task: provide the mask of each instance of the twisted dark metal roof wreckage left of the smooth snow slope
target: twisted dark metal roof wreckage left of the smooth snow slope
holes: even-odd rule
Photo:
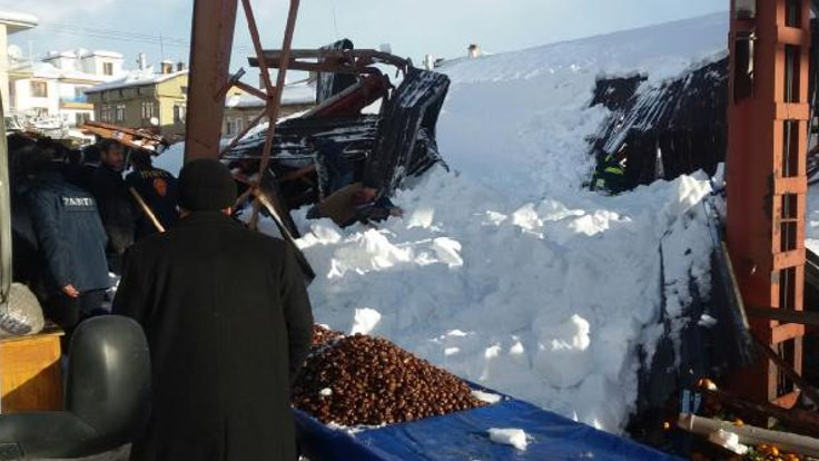
[[[278,51],[266,51],[278,67]],[[304,61],[307,59],[307,61]],[[250,65],[256,65],[250,59]],[[388,63],[404,72],[393,87],[376,65]],[[407,176],[442,163],[435,125],[450,86],[443,73],[414,68],[401,58],[375,50],[355,50],[342,40],[320,50],[293,50],[289,69],[319,71],[318,106],[276,125],[270,169],[288,208],[318,200],[315,148],[305,139],[329,140],[355,166],[355,180],[389,196]],[[381,100],[377,114],[363,109]],[[266,131],[237,141],[225,155],[235,164],[260,159]]]

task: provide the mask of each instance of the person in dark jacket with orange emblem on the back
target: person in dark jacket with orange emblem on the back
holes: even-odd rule
[[[135,150],[131,153],[134,171],[126,176],[125,182],[142,197],[148,208],[159,223],[169,229],[179,219],[176,198],[176,178],[170,173],[152,165],[150,153]],[[142,209],[138,209],[135,239],[138,242],[157,228]]]

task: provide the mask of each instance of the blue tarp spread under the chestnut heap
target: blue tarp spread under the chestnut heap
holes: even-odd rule
[[[514,399],[355,434],[294,412],[302,449],[312,461],[677,460]],[[493,443],[487,434],[491,428],[522,429],[529,447],[521,451]]]

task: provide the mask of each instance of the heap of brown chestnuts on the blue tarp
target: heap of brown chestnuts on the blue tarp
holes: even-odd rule
[[[320,330],[293,403],[325,424],[394,424],[485,405],[466,383],[389,341]]]

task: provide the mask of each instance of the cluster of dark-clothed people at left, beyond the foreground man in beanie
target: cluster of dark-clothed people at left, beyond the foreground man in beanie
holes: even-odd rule
[[[126,249],[157,232],[131,189],[170,226],[178,217],[176,178],[155,168],[150,154],[126,155],[114,140],[78,150],[11,135],[8,147],[12,275],[69,341],[81,320],[107,312]],[[131,173],[124,176],[127,164]]]

